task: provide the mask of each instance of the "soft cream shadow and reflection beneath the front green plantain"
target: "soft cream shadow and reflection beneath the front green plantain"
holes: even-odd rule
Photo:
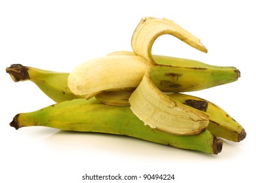
[[[216,155],[205,154],[194,150],[184,150],[172,146],[157,144],[123,135],[105,133],[83,133],[74,131],[58,131],[42,140],[45,146],[54,150],[68,152],[104,152],[137,158],[158,158],[169,161],[194,161],[194,159],[221,159],[240,156],[243,150],[236,144],[224,142],[223,152]],[[230,154],[230,152],[233,152]],[[235,152],[235,153],[234,153]],[[161,154],[161,156],[159,156]],[[223,156],[222,156],[223,154]],[[225,156],[228,154],[228,156]],[[180,158],[180,159],[179,159]]]

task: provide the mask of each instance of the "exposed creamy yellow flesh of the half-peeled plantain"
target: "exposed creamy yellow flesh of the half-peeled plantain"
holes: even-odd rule
[[[146,69],[152,67],[140,56],[106,56],[85,61],[68,76],[68,87],[76,95],[135,89]]]

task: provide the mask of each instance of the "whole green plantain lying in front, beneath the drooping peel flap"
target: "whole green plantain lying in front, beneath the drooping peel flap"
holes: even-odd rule
[[[17,114],[10,125],[16,129],[45,126],[68,131],[127,135],[208,154],[218,154],[223,146],[223,141],[209,131],[186,136],[158,131],[144,125],[129,107],[104,105],[95,98],[89,101],[73,99],[34,112]]]

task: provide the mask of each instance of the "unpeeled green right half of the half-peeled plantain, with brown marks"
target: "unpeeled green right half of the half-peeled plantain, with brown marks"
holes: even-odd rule
[[[162,92],[194,92],[238,80],[235,67],[202,68],[156,65],[150,71],[152,82]]]

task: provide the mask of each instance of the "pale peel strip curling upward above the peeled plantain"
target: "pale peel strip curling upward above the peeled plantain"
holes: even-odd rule
[[[152,17],[140,20],[131,39],[133,51],[152,63],[156,63],[151,53],[152,45],[158,37],[165,34],[173,35],[193,48],[207,53],[207,49],[200,42],[200,39],[183,29],[180,25],[167,18],[158,19]]]

